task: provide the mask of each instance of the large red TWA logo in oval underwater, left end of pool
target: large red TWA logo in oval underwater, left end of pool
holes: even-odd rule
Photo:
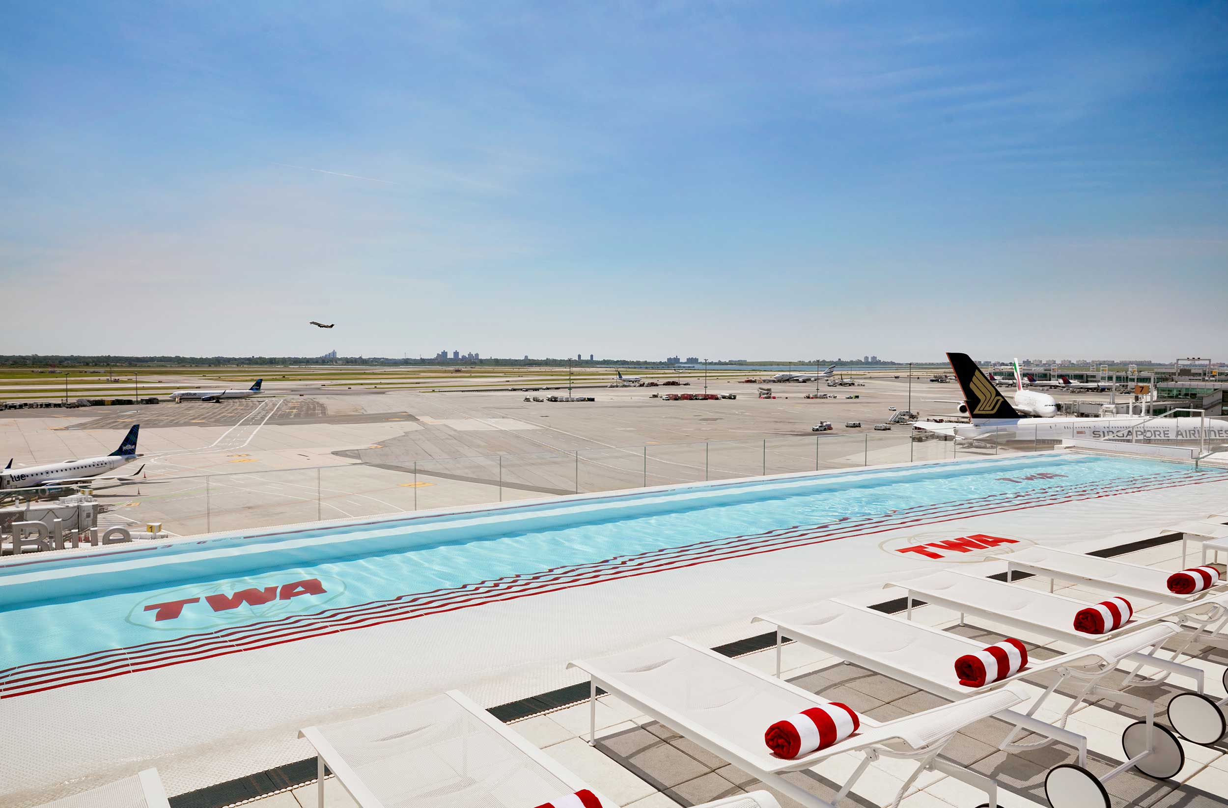
[[[128,621],[147,629],[182,631],[217,629],[252,618],[280,618],[316,612],[345,592],[330,576],[311,578],[262,576],[196,583],[151,593],[128,613]]]

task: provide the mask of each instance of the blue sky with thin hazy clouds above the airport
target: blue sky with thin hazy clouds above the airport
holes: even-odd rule
[[[0,352],[1228,359],[1224,2],[253,5],[6,7]]]

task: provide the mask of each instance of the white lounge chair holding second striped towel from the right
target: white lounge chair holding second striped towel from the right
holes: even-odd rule
[[[1223,634],[1224,626],[1228,625],[1228,594],[1211,600],[1167,607],[1152,614],[1136,614],[1126,625],[1105,634],[1084,634],[1074,630],[1074,615],[1090,604],[1061,594],[1038,592],[953,570],[942,570],[911,578],[906,583],[887,586],[907,592],[905,614],[909,619],[912,616],[912,602],[920,599],[959,612],[960,625],[965,614],[974,614],[1012,629],[1032,631],[1050,640],[1084,647],[1170,621],[1181,629],[1176,637],[1176,647],[1169,648],[1170,657],[1165,659],[1159,656],[1131,655],[1126,659],[1133,662],[1135,668],[1119,688],[1160,684],[1174,673],[1187,677],[1194,682],[1194,691],[1178,694],[1169,702],[1168,717],[1173,728],[1187,740],[1200,744],[1217,743],[1228,732],[1228,716],[1224,713],[1228,696],[1221,701],[1207,696],[1203,689],[1203,670],[1178,661],[1195,641],[1228,650],[1228,636]],[[1195,621],[1196,626],[1185,625],[1186,621]],[[1140,674],[1143,667],[1158,668],[1163,673],[1158,677],[1143,677]],[[1228,686],[1228,668],[1222,675]],[[1175,710],[1173,702],[1176,702]]]

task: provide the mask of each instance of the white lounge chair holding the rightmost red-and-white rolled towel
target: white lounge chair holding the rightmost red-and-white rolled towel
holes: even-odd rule
[[[1156,603],[1176,605],[1228,593],[1228,582],[1224,582],[1194,594],[1174,594],[1168,591],[1172,572],[1054,548],[1032,546],[1009,555],[990,556],[990,560],[1006,562],[1007,582],[1013,580],[1016,572],[1030,572],[1050,581],[1084,583],[1109,594]]]

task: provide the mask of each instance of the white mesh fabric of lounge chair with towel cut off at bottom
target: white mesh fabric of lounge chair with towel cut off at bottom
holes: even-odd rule
[[[575,791],[445,695],[318,729],[386,808],[532,808]]]

